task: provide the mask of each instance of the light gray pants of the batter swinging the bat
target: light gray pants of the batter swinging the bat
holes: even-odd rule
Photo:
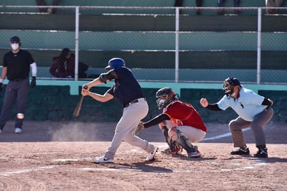
[[[147,153],[153,152],[154,146],[152,144],[134,135],[134,130],[137,128],[139,121],[148,114],[148,104],[146,100],[144,98],[138,100],[139,102],[135,102],[123,108],[123,116],[116,125],[114,138],[111,141],[111,146],[109,146],[104,154],[105,158],[114,159],[116,150],[123,141],[132,146],[142,148]]]

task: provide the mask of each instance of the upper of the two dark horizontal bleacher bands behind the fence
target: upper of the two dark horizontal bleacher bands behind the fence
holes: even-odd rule
[[[75,31],[75,15],[0,13],[1,29]],[[180,16],[180,31],[257,31],[257,15]],[[17,23],[17,24],[15,24]],[[287,31],[285,15],[263,15],[262,31]],[[174,15],[80,15],[79,31],[174,31]]]

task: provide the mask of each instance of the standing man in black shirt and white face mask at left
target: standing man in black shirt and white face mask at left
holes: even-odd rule
[[[3,68],[0,79],[0,91],[3,88],[3,81],[9,80],[3,100],[0,115],[0,133],[6,122],[9,120],[13,102],[17,101],[17,118],[15,119],[15,133],[22,133],[26,99],[29,86],[36,86],[37,66],[33,56],[24,49],[20,49],[21,42],[18,36],[10,38],[12,50],[3,57]],[[29,72],[32,69],[32,80],[29,85]]]

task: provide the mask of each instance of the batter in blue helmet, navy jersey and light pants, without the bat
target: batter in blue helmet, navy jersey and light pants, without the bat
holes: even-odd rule
[[[109,60],[106,69],[109,72],[102,73],[100,77],[83,85],[82,95],[89,95],[100,102],[107,102],[108,100],[117,98],[123,105],[123,116],[116,125],[111,146],[109,146],[102,157],[95,158],[94,162],[114,162],[114,155],[123,141],[142,148],[148,153],[146,160],[153,160],[158,147],[134,135],[137,124],[148,114],[148,104],[141,86],[137,82],[137,79],[134,78],[132,71],[125,67],[123,59],[114,58]],[[91,87],[107,83],[112,79],[114,79],[115,84],[104,95],[89,91]],[[88,89],[84,89],[84,86],[87,86]]]

